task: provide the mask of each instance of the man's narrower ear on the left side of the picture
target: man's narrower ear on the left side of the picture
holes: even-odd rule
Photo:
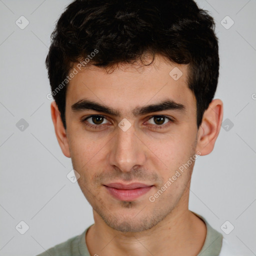
[[[60,117],[60,112],[55,101],[50,104],[51,119],[54,125],[55,134],[58,140],[58,144],[66,157],[70,157],[68,139],[66,136],[66,130]]]

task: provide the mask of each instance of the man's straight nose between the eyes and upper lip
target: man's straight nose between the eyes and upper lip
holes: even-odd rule
[[[135,166],[143,166],[145,160],[145,145],[135,134],[133,125],[126,131],[117,127],[116,135],[112,139],[109,164],[117,166],[123,172],[128,172]]]

